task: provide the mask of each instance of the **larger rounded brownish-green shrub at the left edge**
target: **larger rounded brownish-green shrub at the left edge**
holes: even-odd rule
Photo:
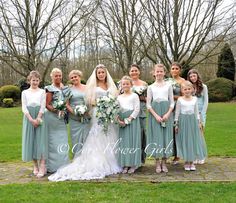
[[[20,88],[14,85],[5,85],[0,88],[0,99],[12,98],[17,101],[20,98]]]

